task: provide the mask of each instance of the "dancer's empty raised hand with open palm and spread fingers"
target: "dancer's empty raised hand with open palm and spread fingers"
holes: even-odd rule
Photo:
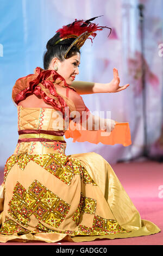
[[[114,78],[111,80],[111,82],[105,84],[106,93],[118,93],[121,92],[121,90],[125,90],[129,86],[129,83],[122,87],[119,86],[120,77],[118,76],[118,70],[116,68],[113,69],[113,75]]]

